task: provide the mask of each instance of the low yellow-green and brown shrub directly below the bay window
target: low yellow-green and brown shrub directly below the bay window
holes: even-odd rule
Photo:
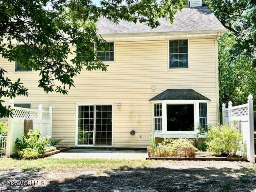
[[[165,138],[156,148],[158,157],[195,157],[194,142],[190,139]]]

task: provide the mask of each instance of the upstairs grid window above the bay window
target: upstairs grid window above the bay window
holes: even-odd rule
[[[188,40],[169,40],[169,68],[188,68]]]

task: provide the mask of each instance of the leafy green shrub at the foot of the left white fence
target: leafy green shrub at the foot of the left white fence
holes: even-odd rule
[[[56,150],[55,147],[50,146],[49,136],[40,138],[40,135],[40,130],[29,130],[27,134],[22,134],[16,139],[18,154],[22,158],[36,158],[40,154]]]

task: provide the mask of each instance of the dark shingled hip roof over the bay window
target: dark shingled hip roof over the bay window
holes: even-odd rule
[[[209,100],[207,97],[194,91],[193,89],[167,89],[164,92],[150,99],[150,101],[160,100]]]

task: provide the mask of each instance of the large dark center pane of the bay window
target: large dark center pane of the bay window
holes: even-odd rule
[[[167,131],[194,131],[194,104],[167,104]]]

